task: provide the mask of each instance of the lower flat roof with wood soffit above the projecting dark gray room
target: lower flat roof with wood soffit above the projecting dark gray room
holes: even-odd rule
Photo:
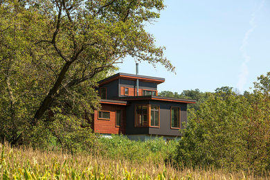
[[[195,104],[196,100],[180,99],[180,98],[168,98],[163,96],[123,96],[118,97],[117,100],[162,100],[167,102],[183,102],[188,104]]]

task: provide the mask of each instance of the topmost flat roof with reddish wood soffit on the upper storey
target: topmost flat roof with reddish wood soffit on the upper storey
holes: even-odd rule
[[[154,82],[157,84],[160,84],[162,82],[165,82],[164,78],[158,78],[158,77],[152,77],[152,76],[147,76],[147,75],[135,75],[135,74],[129,74],[129,73],[117,73],[115,75],[111,75],[108,78],[105,78],[104,80],[100,80],[98,84],[103,85],[107,84],[113,80],[116,79],[127,79],[127,80],[140,80],[144,82]]]

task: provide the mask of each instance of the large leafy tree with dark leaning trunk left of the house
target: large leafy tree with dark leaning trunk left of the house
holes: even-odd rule
[[[145,31],[163,8],[162,0],[1,1],[0,35],[6,43],[0,44],[0,63],[7,69],[1,74],[7,97],[1,108],[10,106],[1,118],[19,116],[27,127],[63,120],[59,114],[73,121],[89,118],[98,106],[96,81],[127,55],[173,71],[164,48]],[[15,101],[25,113],[18,108],[15,115]],[[15,130],[10,141],[24,132]]]

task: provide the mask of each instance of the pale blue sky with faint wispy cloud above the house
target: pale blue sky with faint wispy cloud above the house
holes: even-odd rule
[[[270,0],[165,0],[161,18],[146,29],[165,46],[176,75],[158,64],[139,64],[140,75],[165,78],[159,91],[251,91],[257,77],[270,71]],[[135,73],[131,57],[120,72]]]

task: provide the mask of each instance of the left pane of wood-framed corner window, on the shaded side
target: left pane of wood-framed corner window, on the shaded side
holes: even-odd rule
[[[147,105],[136,105],[136,127],[147,127]]]

